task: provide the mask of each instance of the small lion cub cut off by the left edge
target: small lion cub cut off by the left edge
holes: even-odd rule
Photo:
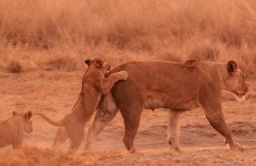
[[[31,118],[33,113],[12,112],[12,118],[0,122],[0,147],[12,145],[13,149],[17,149],[22,145],[23,133],[31,133],[33,125]]]

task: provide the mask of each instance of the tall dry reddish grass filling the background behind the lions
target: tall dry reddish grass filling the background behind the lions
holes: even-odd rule
[[[254,0],[0,0],[3,71],[72,71],[100,56],[235,59],[253,73],[255,44]]]

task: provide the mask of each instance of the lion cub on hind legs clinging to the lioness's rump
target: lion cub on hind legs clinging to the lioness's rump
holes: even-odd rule
[[[109,78],[104,75],[110,70],[110,65],[101,58],[86,60],[89,66],[82,78],[82,90],[72,112],[68,113],[62,120],[55,122],[42,113],[35,113],[42,116],[44,120],[60,127],[57,130],[53,145],[63,143],[66,138],[71,139],[72,150],[77,150],[84,138],[84,126],[97,109],[102,94],[107,94],[113,85],[119,80],[127,80],[127,72],[120,71],[112,73]],[[64,129],[63,129],[64,127]]]

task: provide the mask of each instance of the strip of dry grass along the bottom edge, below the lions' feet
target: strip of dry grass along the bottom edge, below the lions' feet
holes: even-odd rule
[[[0,166],[44,166],[44,165],[253,165],[255,148],[244,152],[226,149],[186,149],[182,154],[170,150],[141,151],[128,154],[124,151],[98,151],[73,154],[68,151],[24,147],[0,158]]]

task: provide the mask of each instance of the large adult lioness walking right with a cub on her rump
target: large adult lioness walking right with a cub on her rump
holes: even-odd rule
[[[184,111],[201,107],[214,129],[226,138],[230,149],[242,149],[232,140],[221,111],[221,89],[238,97],[244,96],[247,85],[244,73],[234,61],[216,62],[129,62],[113,68],[111,73],[127,71],[129,78],[119,82],[99,105],[89,129],[85,149],[91,149],[98,133],[120,109],[125,120],[123,142],[134,151],[134,136],[143,109],[165,108],[169,111],[168,142],[179,151],[179,118]],[[154,75],[152,77],[152,75]]]

